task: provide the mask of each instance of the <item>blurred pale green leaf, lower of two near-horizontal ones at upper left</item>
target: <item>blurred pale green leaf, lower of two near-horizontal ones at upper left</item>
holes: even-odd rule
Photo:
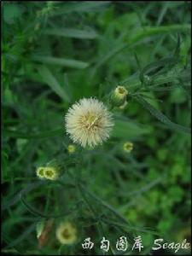
[[[56,58],[52,56],[38,56],[33,55],[32,61],[39,61],[45,64],[57,65],[61,67],[73,67],[73,68],[85,68],[89,66],[89,63],[84,61],[76,61],[71,59]]]

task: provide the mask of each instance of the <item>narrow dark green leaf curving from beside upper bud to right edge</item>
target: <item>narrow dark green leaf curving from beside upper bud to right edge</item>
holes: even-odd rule
[[[140,102],[144,108],[148,109],[148,111],[154,115],[154,117],[160,120],[162,123],[170,127],[171,129],[179,132],[190,133],[191,129],[189,127],[185,127],[183,125],[177,125],[173,123],[170,119],[166,117],[165,114],[161,113],[159,110],[154,108],[151,104],[149,104],[146,100],[143,99],[142,96],[136,96],[138,102]]]

